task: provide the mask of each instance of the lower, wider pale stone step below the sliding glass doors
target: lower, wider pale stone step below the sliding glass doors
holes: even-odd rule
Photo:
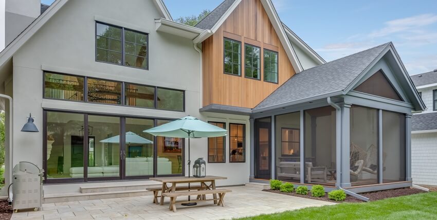
[[[153,195],[153,192],[142,190],[122,190],[111,192],[90,192],[90,193],[59,193],[59,194],[45,194],[43,197],[43,203],[61,203],[66,201],[81,201],[81,200],[94,200],[103,198],[121,198],[132,196],[146,196]]]

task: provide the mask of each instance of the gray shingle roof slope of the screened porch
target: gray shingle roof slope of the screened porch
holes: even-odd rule
[[[304,99],[322,98],[321,96],[341,91],[357,78],[389,44],[391,42],[306,69],[286,81],[254,107],[253,111]]]

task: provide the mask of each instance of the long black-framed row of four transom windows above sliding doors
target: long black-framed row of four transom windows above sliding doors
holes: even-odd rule
[[[184,90],[48,71],[43,78],[44,99],[185,111]]]

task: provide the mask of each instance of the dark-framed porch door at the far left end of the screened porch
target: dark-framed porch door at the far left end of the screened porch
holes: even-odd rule
[[[271,118],[255,119],[255,178],[271,178]]]

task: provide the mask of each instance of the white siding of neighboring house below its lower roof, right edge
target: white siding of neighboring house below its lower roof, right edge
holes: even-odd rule
[[[411,174],[414,184],[437,186],[437,133],[411,135]]]

